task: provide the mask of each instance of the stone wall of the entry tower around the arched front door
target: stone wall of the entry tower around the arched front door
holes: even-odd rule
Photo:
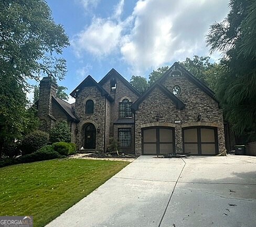
[[[94,113],[86,115],[86,100],[92,99],[94,101]],[[76,97],[76,116],[80,122],[77,123],[76,144],[84,146],[84,126],[86,123],[93,123],[96,128],[96,150],[104,150],[104,110],[105,97],[96,87],[83,88]],[[97,132],[98,129],[100,132]]]

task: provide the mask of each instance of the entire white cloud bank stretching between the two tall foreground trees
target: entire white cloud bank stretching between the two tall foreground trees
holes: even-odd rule
[[[133,13],[121,20],[120,0],[112,17],[94,17],[71,43],[78,55],[121,53],[133,71],[141,72],[194,54],[209,55],[205,36],[211,24],[227,15],[228,1],[139,0]]]

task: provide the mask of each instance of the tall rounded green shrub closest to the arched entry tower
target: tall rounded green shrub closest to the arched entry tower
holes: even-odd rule
[[[59,121],[54,128],[50,130],[49,141],[51,143],[55,142],[70,142],[71,132],[66,121]]]

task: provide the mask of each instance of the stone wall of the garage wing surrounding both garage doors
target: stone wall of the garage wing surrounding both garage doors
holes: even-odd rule
[[[182,129],[190,126],[211,126],[218,130],[219,153],[225,150],[225,135],[223,126],[222,110],[218,103],[204,93],[186,77],[167,77],[162,83],[170,92],[173,87],[179,85],[181,93],[178,96],[186,105],[185,109],[177,110],[174,103],[163,94],[159,88],[140,104],[135,116],[135,153],[141,154],[141,128],[147,123],[151,126],[175,126],[176,152],[183,152]],[[159,113],[159,121],[156,122],[156,115]],[[200,122],[197,121],[198,113],[201,115]],[[175,124],[175,120],[180,123]]]

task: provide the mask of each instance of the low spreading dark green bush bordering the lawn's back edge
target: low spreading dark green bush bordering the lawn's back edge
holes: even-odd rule
[[[57,151],[54,150],[54,147],[51,145],[42,146],[38,151],[26,154],[20,158],[20,162],[28,163],[28,162],[37,162],[43,160],[50,160],[54,158],[61,158],[61,156]]]

